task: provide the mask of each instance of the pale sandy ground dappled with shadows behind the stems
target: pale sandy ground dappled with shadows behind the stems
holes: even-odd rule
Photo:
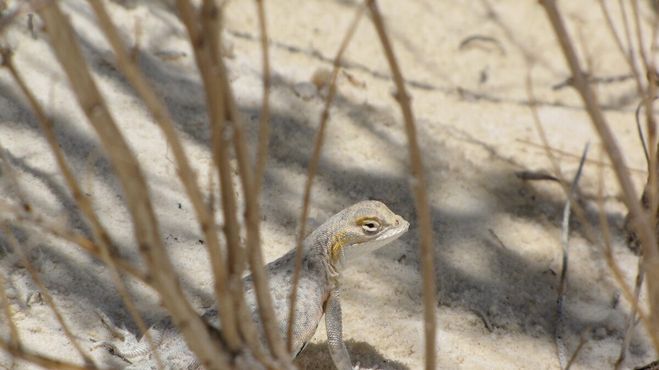
[[[331,67],[356,3],[268,3],[274,81],[263,194],[268,260],[294,243],[301,189],[322,108],[322,97],[311,88],[311,76]],[[517,171],[551,168],[529,110],[525,89],[529,73],[540,117],[568,176],[575,172],[584,145],[591,143],[581,185],[593,222],[597,219],[599,144],[576,92],[556,88],[569,73],[543,9],[537,2],[517,0],[389,0],[380,4],[413,97],[428,171],[440,287],[438,367],[556,369],[554,310],[564,197],[555,183],[528,183],[515,176]],[[603,77],[626,73],[620,72],[626,71],[624,63],[602,26],[597,4],[561,5],[576,25],[572,31],[587,40],[581,43],[581,51],[592,63],[591,73]],[[186,150],[206,183],[210,154],[203,89],[182,25],[166,6],[142,2],[108,6],[127,40],[135,43],[139,34],[140,64],[170,108]],[[212,287],[206,252],[176,179],[171,152],[114,67],[109,46],[86,3],[66,2],[65,9],[98,85],[144,165],[162,235],[183,285],[196,307],[208,307]],[[253,2],[230,2],[226,20],[224,37],[233,52],[227,59],[232,86],[253,143],[261,99]],[[491,39],[483,41],[482,36]],[[138,261],[118,182],[54,62],[45,34],[37,30],[33,38],[23,16],[7,39],[16,51],[20,71],[55,119],[62,147],[103,223],[122,253]],[[312,218],[322,222],[353,202],[379,199],[411,220],[405,237],[370,258],[351,261],[344,273],[344,335],[353,362],[383,369],[419,369],[424,351],[420,261],[406,138],[388,67],[368,19],[362,21],[346,60],[314,187]],[[640,189],[646,174],[633,123],[634,86],[631,80],[623,80],[596,88]],[[0,72],[0,143],[38,212],[61,225],[88,231],[74,210],[37,121],[6,72]],[[637,259],[622,242],[625,213],[608,165],[604,181],[614,253],[631,282]],[[15,199],[6,181],[2,194]],[[588,338],[573,368],[610,368],[620,348],[629,305],[618,298],[619,289],[601,249],[586,242],[579,223],[572,226],[566,302],[570,351],[582,334]],[[99,262],[48,237],[19,236],[31,248],[34,263],[84,348],[91,348],[93,340],[109,339],[97,312],[136,333],[107,269]],[[6,252],[6,236],[0,241],[1,271],[8,280],[11,307],[25,344],[51,356],[79,360],[48,307],[33,297],[28,299],[36,287],[16,255]],[[131,289],[149,322],[163,317],[152,292],[137,283]],[[4,316],[2,320],[0,334],[6,338]],[[101,364],[117,364],[101,350],[91,354]],[[655,358],[640,328],[628,356],[627,368]],[[9,364],[8,357],[0,355],[0,367]],[[332,368],[322,324],[299,364],[306,369]],[[19,364],[18,368],[30,366]]]

